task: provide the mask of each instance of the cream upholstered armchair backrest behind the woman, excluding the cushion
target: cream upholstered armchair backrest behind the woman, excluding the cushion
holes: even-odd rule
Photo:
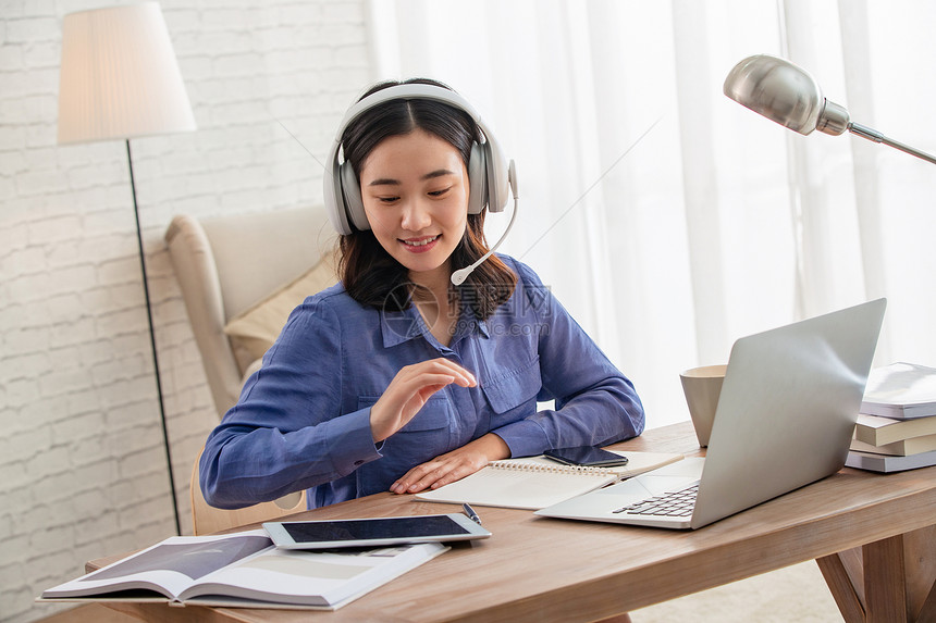
[[[227,322],[315,266],[334,234],[323,208],[197,220],[175,216],[165,241],[219,418],[237,402],[253,361]]]

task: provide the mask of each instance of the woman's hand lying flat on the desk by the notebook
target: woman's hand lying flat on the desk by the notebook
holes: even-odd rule
[[[390,490],[394,494],[418,494],[426,489],[438,489],[473,474],[491,461],[509,456],[507,444],[494,433],[488,433],[460,448],[416,465],[393,483]]]

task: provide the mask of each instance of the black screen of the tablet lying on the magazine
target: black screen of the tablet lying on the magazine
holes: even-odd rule
[[[374,540],[441,535],[467,535],[468,531],[447,515],[368,520],[284,522],[296,543]]]

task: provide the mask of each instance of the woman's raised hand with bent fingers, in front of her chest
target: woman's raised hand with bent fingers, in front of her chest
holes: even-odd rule
[[[430,396],[451,383],[461,387],[478,385],[473,374],[447,359],[431,359],[403,367],[370,409],[374,444],[403,428]]]

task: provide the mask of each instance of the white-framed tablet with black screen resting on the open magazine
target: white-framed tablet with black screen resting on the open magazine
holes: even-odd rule
[[[263,528],[283,549],[378,547],[488,538],[491,533],[460,513],[350,520],[268,522]]]

